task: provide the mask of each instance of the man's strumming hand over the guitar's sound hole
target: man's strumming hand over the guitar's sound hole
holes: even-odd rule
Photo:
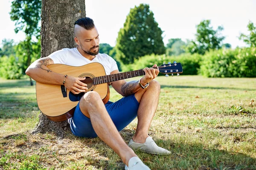
[[[87,84],[81,82],[83,80],[85,80],[85,78],[67,76],[64,86],[69,89],[70,92],[73,92],[73,94],[79,94],[88,89]]]

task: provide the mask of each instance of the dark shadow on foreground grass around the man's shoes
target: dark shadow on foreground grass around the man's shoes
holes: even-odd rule
[[[128,130],[129,131],[129,130]],[[126,136],[124,132],[121,133],[122,137]],[[128,134],[129,139],[133,136]],[[70,136],[69,138],[72,138]],[[75,137],[76,138],[76,137]],[[110,148],[99,138],[77,138],[81,144],[87,146],[90,150],[95,150],[97,153],[104,157],[108,157],[112,153]],[[135,151],[143,162],[151,168],[151,170],[172,170],[172,169],[196,169],[196,170],[244,170],[256,169],[256,158],[241,153],[228,152],[226,150],[218,150],[215,148],[206,148],[203,144],[182,144],[173,143],[170,140],[163,141],[155,139],[160,147],[164,147],[171,151],[170,155],[152,155],[141,151]],[[125,142],[128,143],[127,138]],[[168,146],[169,145],[169,146]],[[85,151],[86,152],[86,151]],[[111,154],[109,153],[111,152]],[[110,158],[111,159],[111,158]],[[100,160],[95,160],[92,166],[96,168],[106,169],[113,166],[116,169],[123,169],[124,164],[116,163],[116,165],[99,164]]]

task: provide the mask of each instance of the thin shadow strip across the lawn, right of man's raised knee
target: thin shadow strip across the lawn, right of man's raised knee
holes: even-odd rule
[[[175,88],[175,89],[230,89],[230,90],[247,90],[253,91],[255,89],[243,89],[243,88],[234,88],[234,87],[206,87],[206,86],[166,86],[161,85],[161,89],[163,88]]]

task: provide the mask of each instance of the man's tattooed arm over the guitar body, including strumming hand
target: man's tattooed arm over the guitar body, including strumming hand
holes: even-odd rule
[[[26,74],[40,83],[63,85],[65,75],[52,72],[52,70],[47,68],[50,64],[54,64],[51,58],[40,58],[26,69]],[[80,92],[85,92],[87,89],[87,84],[81,82],[84,79],[85,78],[67,76],[64,85],[74,94],[79,94]]]

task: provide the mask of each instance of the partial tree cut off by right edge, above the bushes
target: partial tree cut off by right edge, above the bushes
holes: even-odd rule
[[[250,34],[241,34],[239,39],[244,40],[244,42],[250,45],[251,47],[256,47],[256,26],[254,26],[253,22],[249,21],[247,28]]]

